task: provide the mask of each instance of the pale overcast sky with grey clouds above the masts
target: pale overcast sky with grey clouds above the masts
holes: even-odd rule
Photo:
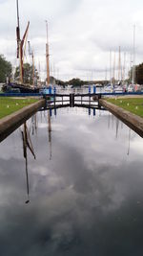
[[[30,20],[28,40],[41,78],[46,78],[46,23],[49,24],[51,75],[68,81],[117,79],[119,46],[127,76],[133,60],[143,61],[143,2],[141,0],[19,0],[21,36]],[[16,0],[0,0],[0,54],[16,59]],[[125,54],[126,53],[126,54]],[[28,56],[25,61],[31,61]],[[115,64],[114,64],[115,63]],[[107,70],[107,71],[106,71]]]

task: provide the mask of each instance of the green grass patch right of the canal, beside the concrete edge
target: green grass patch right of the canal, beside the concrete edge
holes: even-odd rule
[[[108,99],[107,101],[143,117],[143,98]]]

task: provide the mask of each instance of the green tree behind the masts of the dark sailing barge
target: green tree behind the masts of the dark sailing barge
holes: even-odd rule
[[[31,66],[31,64],[30,63],[25,63],[23,65],[23,69],[24,69],[24,76],[23,76],[24,83],[33,84],[32,66]],[[37,72],[37,70],[35,68],[34,68],[34,78],[36,80],[39,79],[38,72]],[[15,81],[19,81],[20,80],[20,68],[19,68],[19,66],[16,67],[15,74],[14,74],[14,79],[15,79]]]

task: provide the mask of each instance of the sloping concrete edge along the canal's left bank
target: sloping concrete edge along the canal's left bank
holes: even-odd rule
[[[0,142],[10,135],[12,131],[26,122],[37,110],[45,105],[45,100],[27,105],[18,111],[0,120]]]

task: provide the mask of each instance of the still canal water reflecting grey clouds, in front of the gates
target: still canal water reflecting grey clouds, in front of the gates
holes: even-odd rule
[[[142,138],[83,108],[27,127],[35,159],[23,126],[0,144],[0,255],[142,256]]]

